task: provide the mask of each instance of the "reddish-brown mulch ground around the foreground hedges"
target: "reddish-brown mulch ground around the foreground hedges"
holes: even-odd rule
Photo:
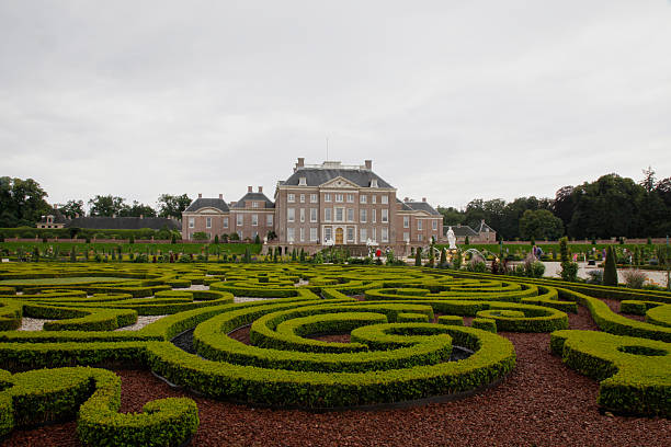
[[[571,329],[595,330],[580,308]],[[599,386],[549,353],[549,334],[501,333],[518,365],[497,388],[459,401],[387,411],[314,414],[254,409],[192,397],[201,426],[194,446],[664,446],[671,421],[601,415]],[[118,370],[122,411],[189,396],[147,371]],[[75,423],[14,431],[7,446],[78,445]]]

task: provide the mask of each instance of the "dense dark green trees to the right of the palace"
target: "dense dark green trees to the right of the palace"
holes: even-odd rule
[[[648,168],[635,182],[615,173],[564,186],[554,198],[476,198],[465,209],[439,207],[444,225],[479,226],[481,219],[504,240],[647,238],[671,234],[671,177]]]

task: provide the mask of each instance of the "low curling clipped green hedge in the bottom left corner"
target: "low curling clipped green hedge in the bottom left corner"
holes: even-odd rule
[[[0,381],[0,435],[77,417],[84,445],[180,446],[198,426],[191,399],[161,399],[147,403],[144,413],[118,413],[121,379],[103,369],[2,371]]]

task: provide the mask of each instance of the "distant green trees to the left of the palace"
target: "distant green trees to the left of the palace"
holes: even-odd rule
[[[0,177],[0,228],[33,227],[42,216],[52,211],[47,203],[48,194],[33,179]],[[96,217],[172,217],[182,218],[182,211],[191,204],[186,194],[161,194],[157,207],[114,195],[96,195],[90,198],[89,216]],[[84,202],[70,199],[59,207],[60,213],[69,218],[86,216]]]

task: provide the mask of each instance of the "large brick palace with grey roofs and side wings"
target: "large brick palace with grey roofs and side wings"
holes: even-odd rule
[[[397,190],[373,171],[371,160],[362,165],[305,164],[298,158],[288,179],[277,182],[273,198],[251,186],[229,204],[221,194],[219,198],[198,194],[182,214],[182,237],[237,233],[240,240],[259,236],[270,247],[304,248],[310,253],[329,245],[378,245],[399,254],[424,247],[432,238],[444,239],[441,214],[425,198],[398,199]]]

